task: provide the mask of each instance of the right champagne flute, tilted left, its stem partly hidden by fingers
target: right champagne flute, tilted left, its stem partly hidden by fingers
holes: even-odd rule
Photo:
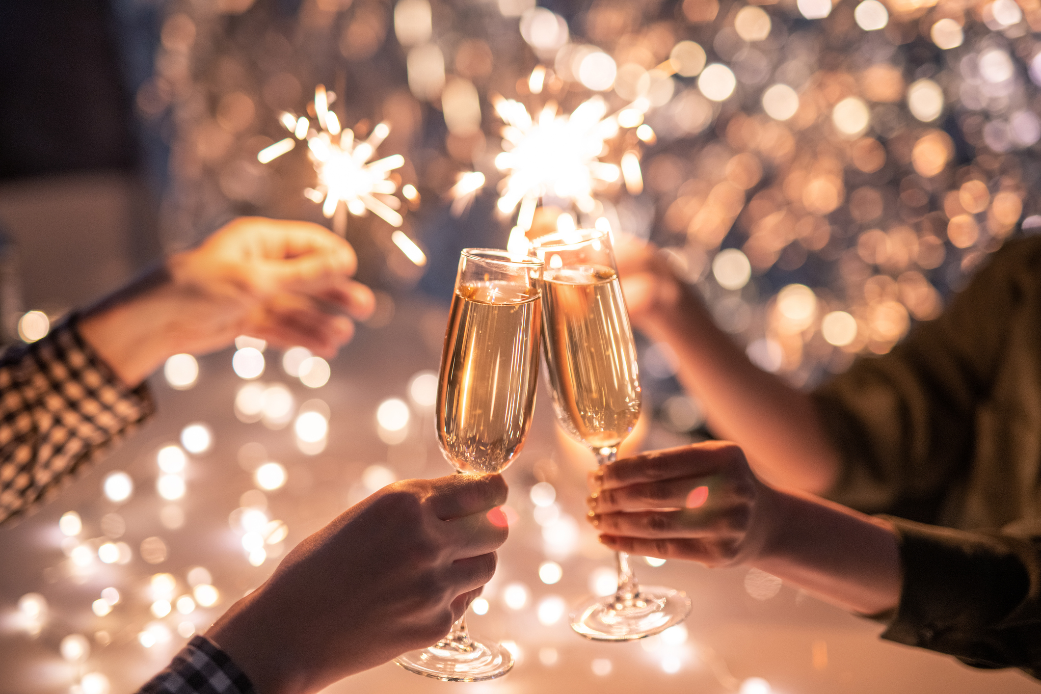
[[[545,266],[542,344],[557,421],[600,465],[613,462],[639,418],[640,384],[610,233],[557,231],[532,247]],[[572,628],[587,639],[630,641],[686,619],[686,594],[640,586],[629,555],[616,557],[617,591],[585,598],[570,614]]]

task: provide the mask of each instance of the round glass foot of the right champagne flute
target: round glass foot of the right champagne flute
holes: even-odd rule
[[[660,586],[640,586],[628,600],[588,597],[570,613],[572,628],[592,641],[635,641],[664,632],[690,614],[686,593]]]

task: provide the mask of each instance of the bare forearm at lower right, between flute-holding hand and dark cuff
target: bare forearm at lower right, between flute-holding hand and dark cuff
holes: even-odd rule
[[[888,521],[801,493],[769,496],[775,522],[751,565],[852,612],[899,602],[899,543]]]

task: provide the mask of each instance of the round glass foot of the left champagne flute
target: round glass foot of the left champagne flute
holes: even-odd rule
[[[513,669],[513,656],[498,643],[442,641],[402,653],[395,663],[409,672],[445,682],[482,682]]]

